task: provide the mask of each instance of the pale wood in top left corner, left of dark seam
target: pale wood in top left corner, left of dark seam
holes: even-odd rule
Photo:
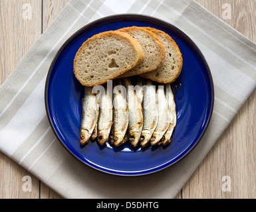
[[[24,19],[23,5],[31,5],[31,19]],[[41,35],[41,0],[0,1],[0,83]]]

